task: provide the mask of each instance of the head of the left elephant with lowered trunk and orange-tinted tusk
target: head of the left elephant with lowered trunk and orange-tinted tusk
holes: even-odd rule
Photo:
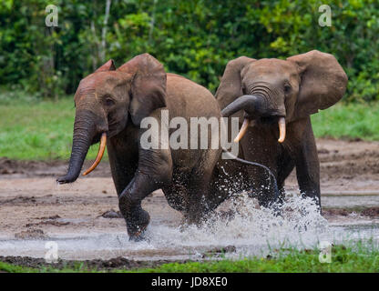
[[[137,55],[116,69],[112,60],[80,81],[74,97],[76,116],[74,136],[67,175],[57,179],[60,184],[77,180],[89,146],[100,141],[95,163],[100,162],[107,137],[118,135],[130,116],[139,126],[144,117],[166,105],[166,73],[158,60],[149,54]]]

